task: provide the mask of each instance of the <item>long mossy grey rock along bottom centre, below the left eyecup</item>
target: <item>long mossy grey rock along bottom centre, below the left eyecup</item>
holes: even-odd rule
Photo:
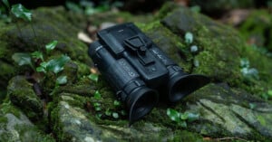
[[[180,133],[189,135],[187,138],[190,139],[200,139],[188,131],[175,133],[170,128],[150,122],[129,127],[127,120],[102,120],[96,118],[93,112],[83,109],[88,98],[71,93],[61,93],[59,96],[57,105],[51,111],[51,118],[53,131],[60,141],[167,141],[178,138]]]

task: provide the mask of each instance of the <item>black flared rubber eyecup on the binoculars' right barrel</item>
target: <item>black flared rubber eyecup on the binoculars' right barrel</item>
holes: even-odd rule
[[[179,101],[194,90],[209,83],[209,78],[203,75],[174,76],[169,83],[169,99],[171,102]]]

